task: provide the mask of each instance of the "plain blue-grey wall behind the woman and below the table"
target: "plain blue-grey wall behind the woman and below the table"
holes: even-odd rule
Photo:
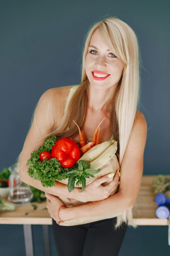
[[[0,171],[15,163],[40,96],[50,88],[80,83],[83,36],[93,22],[111,15],[131,26],[140,42],[140,111],[148,124],[143,173],[169,174],[169,7],[166,0],[1,1]],[[24,255],[17,243],[22,226],[1,225],[0,230],[2,255],[10,254],[9,243],[10,255]],[[7,230],[15,233],[10,240]],[[41,247],[39,243],[35,246]],[[170,253],[167,227],[129,227],[120,255],[163,255],[163,250]]]

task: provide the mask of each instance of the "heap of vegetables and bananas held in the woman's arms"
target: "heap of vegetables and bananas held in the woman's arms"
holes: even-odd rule
[[[80,142],[78,144],[70,138],[59,139],[55,135],[46,139],[43,146],[34,150],[31,158],[27,160],[26,165],[30,165],[29,176],[40,180],[44,187],[55,186],[56,180],[68,178],[69,192],[74,190],[77,179],[76,185],[82,185],[80,191],[82,192],[86,187],[86,178],[94,178],[94,174],[100,172],[100,168],[117,151],[116,140],[99,144],[100,124],[94,132],[92,141],[88,144],[79,127]]]

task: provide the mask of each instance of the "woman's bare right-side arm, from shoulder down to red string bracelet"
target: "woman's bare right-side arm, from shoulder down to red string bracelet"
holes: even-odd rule
[[[132,209],[143,174],[143,154],[146,138],[147,123],[144,115],[139,112],[120,166],[119,192],[101,201],[69,208],[62,207],[60,209],[61,219],[78,219],[79,217],[92,217]]]

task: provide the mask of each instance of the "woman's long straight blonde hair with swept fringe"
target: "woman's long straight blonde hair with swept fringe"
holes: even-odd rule
[[[56,120],[54,119],[52,131],[41,137],[41,139],[45,140],[49,136],[53,135],[56,135],[57,137],[68,138],[77,134],[78,128],[72,121],[73,119],[80,128],[83,127],[89,101],[90,84],[85,71],[85,60],[88,53],[91,37],[96,29],[99,29],[101,37],[109,49],[117,56],[119,60],[124,63],[123,75],[120,78],[116,93],[112,99],[114,104],[110,113],[110,128],[113,132],[114,139],[118,141],[117,153],[121,168],[123,155],[125,153],[134,124],[136,110],[139,106],[141,84],[139,70],[141,67],[141,54],[138,39],[134,30],[117,17],[105,18],[104,20],[93,24],[89,28],[84,39],[84,47],[82,51],[81,84],[78,86],[76,92],[72,96],[67,111],[64,113],[61,122],[57,124],[57,118]],[[48,106],[48,114],[52,116],[52,103],[54,95],[55,93],[51,96],[51,100]],[[59,100],[58,109],[61,108],[60,104],[63,103]],[[36,120],[35,112],[33,115]],[[31,124],[32,122],[33,118],[31,120]],[[67,129],[68,127],[69,129]],[[19,155],[19,160],[21,153]],[[119,227],[122,222],[127,223],[127,219],[132,220],[131,210],[125,210],[121,216],[117,217],[117,224],[115,228]],[[132,226],[136,227],[136,225],[133,224]]]

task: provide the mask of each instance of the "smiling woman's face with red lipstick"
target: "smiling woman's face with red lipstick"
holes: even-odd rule
[[[95,47],[90,47],[91,45]],[[98,89],[107,89],[113,85],[117,87],[123,74],[123,68],[124,63],[108,50],[108,46],[103,42],[97,29],[92,35],[85,62],[90,85]],[[102,78],[96,80],[97,78],[93,76],[92,71],[102,71],[109,74],[109,76],[104,80],[101,80]]]

